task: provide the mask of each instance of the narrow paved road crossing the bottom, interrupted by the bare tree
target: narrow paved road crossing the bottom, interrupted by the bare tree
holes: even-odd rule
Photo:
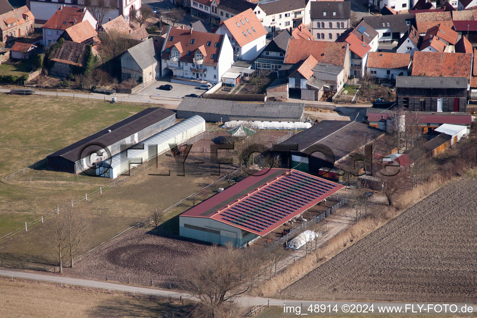
[[[17,277],[17,278],[26,278],[26,279],[38,279],[41,281],[53,282],[53,283],[63,283],[69,285],[76,285],[76,286],[85,286],[85,287],[93,287],[93,288],[102,288],[102,289],[110,289],[111,290],[118,290],[118,291],[125,291],[130,293],[139,293],[145,295],[153,295],[153,296],[162,296],[162,297],[173,297],[173,298],[186,298],[196,300],[197,298],[191,296],[187,293],[179,293],[175,291],[169,290],[162,290],[162,289],[154,289],[154,288],[145,288],[145,287],[135,287],[129,285],[121,285],[121,284],[114,284],[104,281],[96,281],[96,280],[89,280],[89,279],[82,279],[82,278],[73,278],[73,277],[65,277],[65,276],[52,276],[52,275],[44,275],[44,274],[36,274],[36,273],[27,273],[21,271],[12,271],[12,270],[3,270],[0,269],[0,276],[7,276],[7,277]],[[295,300],[295,299],[272,299],[272,298],[264,298],[264,297],[251,297],[251,296],[244,296],[240,297],[237,303],[241,306],[255,306],[255,305],[265,305],[270,304],[270,306],[304,306],[308,307],[310,305],[314,305],[317,301],[310,301],[310,300]],[[349,301],[333,301],[333,302],[320,302],[320,304],[331,304],[332,307],[334,304],[337,304],[339,308],[345,304],[364,304],[363,302],[349,302]],[[374,304],[389,304],[384,302],[373,302]],[[367,303],[369,304],[369,303]],[[404,304],[404,303],[393,303],[394,305]],[[474,312],[477,311],[477,306],[474,306]]]

